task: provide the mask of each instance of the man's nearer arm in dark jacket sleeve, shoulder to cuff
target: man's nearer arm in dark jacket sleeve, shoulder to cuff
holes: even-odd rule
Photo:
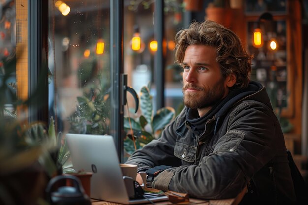
[[[275,114],[260,104],[242,104],[212,154],[198,165],[168,169],[152,187],[189,193],[199,198],[232,198],[276,153]],[[281,147],[281,146],[280,146]]]

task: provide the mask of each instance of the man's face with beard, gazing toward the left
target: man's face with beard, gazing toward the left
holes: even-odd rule
[[[216,49],[204,45],[187,47],[182,63],[184,104],[193,109],[212,107],[228,93],[226,80],[216,62]]]

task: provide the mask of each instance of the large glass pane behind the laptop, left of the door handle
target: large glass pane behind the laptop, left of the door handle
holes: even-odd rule
[[[110,134],[110,1],[49,1],[50,116],[64,134]]]

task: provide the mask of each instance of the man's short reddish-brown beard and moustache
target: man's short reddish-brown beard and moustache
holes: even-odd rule
[[[198,92],[185,92],[187,88],[200,90]],[[198,87],[196,84],[186,83],[182,88],[184,105],[192,109],[212,107],[224,97],[224,79],[221,78],[210,88]]]

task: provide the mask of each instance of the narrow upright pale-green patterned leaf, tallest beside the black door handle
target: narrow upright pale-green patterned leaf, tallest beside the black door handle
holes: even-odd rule
[[[149,88],[146,86],[143,86],[140,89],[140,105],[142,114],[147,119],[148,123],[151,124],[153,115],[153,106]]]

